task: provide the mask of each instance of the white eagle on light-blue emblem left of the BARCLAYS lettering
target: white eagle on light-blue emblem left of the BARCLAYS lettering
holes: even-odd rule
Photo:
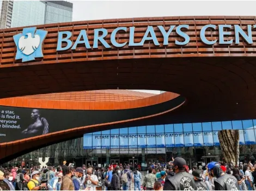
[[[14,42],[17,47],[15,60],[22,59],[22,62],[42,58],[42,42],[47,35],[46,30],[36,30],[36,27],[23,28],[22,33],[14,35]]]

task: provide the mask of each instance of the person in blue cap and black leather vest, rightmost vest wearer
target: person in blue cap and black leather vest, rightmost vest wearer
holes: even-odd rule
[[[240,190],[237,179],[225,174],[217,162],[209,163],[208,170],[217,178],[214,181],[215,190]]]

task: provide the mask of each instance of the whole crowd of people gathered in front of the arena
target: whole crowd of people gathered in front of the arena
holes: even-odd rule
[[[210,162],[191,169],[184,158],[152,164],[147,173],[129,164],[105,168],[74,164],[0,169],[0,190],[255,190],[256,164]],[[133,166],[134,167],[134,166]]]

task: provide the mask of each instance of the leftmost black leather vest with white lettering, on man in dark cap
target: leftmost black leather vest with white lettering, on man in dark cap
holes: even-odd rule
[[[175,190],[196,190],[194,176],[189,173],[179,172],[168,179]]]

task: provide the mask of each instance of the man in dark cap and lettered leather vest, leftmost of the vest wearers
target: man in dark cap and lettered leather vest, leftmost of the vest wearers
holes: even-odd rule
[[[177,157],[173,161],[175,175],[166,179],[163,190],[196,190],[194,177],[185,171],[186,161]]]

